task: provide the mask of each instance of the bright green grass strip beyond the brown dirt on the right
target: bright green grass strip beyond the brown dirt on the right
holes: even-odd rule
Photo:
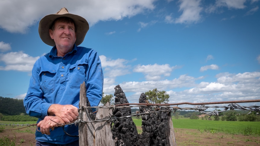
[[[140,128],[142,120],[132,118],[136,127]],[[214,120],[190,120],[188,118],[174,119],[173,128],[198,129],[207,132],[223,132],[227,134],[260,135],[260,122],[247,121],[214,121]]]

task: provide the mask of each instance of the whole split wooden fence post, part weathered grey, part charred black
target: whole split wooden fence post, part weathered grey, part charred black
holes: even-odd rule
[[[168,108],[140,107],[140,113],[147,114],[142,114],[143,132],[138,134],[130,107],[115,107],[113,114],[112,110],[100,108],[96,116],[89,108],[85,82],[81,84],[80,88],[78,120],[80,146],[176,146],[171,112]],[[125,93],[119,85],[115,87],[114,95],[116,96],[115,105],[128,103]],[[139,103],[147,103],[144,93],[141,94]],[[149,112],[157,110],[160,112]],[[114,121],[112,129],[109,120],[106,121],[111,117]],[[96,123],[93,123],[95,118]],[[98,120],[105,121],[97,122]]]

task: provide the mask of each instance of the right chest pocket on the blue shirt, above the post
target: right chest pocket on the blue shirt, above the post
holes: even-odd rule
[[[86,73],[88,64],[86,62],[79,63],[69,68],[69,86],[71,88],[80,88],[80,84],[86,82]]]

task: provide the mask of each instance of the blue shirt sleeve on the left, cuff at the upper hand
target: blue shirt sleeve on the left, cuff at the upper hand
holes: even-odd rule
[[[27,95],[24,98],[24,107],[27,114],[37,118],[44,118],[48,115],[47,111],[52,105],[43,100],[43,92],[39,81],[39,68],[33,66]]]

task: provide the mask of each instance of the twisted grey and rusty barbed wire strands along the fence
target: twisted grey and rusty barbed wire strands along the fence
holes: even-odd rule
[[[146,116],[148,114],[151,113],[160,113],[160,112],[168,112],[168,113],[175,113],[177,110],[197,110],[200,113],[204,113],[209,115],[210,117],[212,115],[219,115],[219,113],[227,111],[227,110],[248,110],[250,114],[252,111],[257,112],[257,114],[259,115],[259,111],[260,111],[260,106],[257,105],[252,105],[252,106],[241,106],[239,104],[236,103],[242,103],[242,102],[259,102],[259,100],[244,100],[244,101],[233,101],[232,104],[229,104],[228,106],[206,106],[204,104],[225,104],[225,103],[231,103],[231,101],[221,101],[221,102],[208,102],[208,103],[188,103],[188,102],[182,102],[182,103],[176,103],[176,104],[138,104],[138,103],[128,103],[128,104],[118,104],[118,105],[113,105],[113,106],[95,106],[95,107],[89,107],[89,106],[80,106],[79,110],[84,110],[87,108],[105,108],[105,109],[109,109],[109,110],[115,110],[116,108],[133,108],[133,107],[143,107],[143,108],[149,108],[149,110],[144,111],[143,113],[140,113],[140,111],[137,111],[136,113],[132,113],[131,115],[128,116],[120,116],[120,117],[116,117],[114,115],[109,116],[108,119],[103,119],[103,120],[90,120],[90,121],[83,121],[81,118],[78,117],[77,120],[71,122],[71,123],[67,123],[67,124],[62,124],[62,125],[55,125],[56,127],[61,127],[61,126],[65,126],[65,125],[72,125],[72,124],[79,124],[79,123],[95,123],[95,122],[114,122],[117,121],[119,119],[123,119],[123,118],[131,118],[134,116]],[[199,105],[199,106],[194,106],[194,107],[178,107],[178,105],[180,104],[191,104],[191,105],[199,105],[199,104],[203,104],[203,105]],[[177,105],[177,106],[173,106],[173,105]],[[162,108],[166,108],[166,110],[162,109]],[[206,110],[208,110],[208,108],[215,108],[214,111],[209,111],[206,112]],[[217,108],[224,108],[223,110],[218,111]],[[0,124],[0,125],[6,125],[6,126],[35,126],[37,124]],[[26,127],[23,127],[26,128]],[[3,129],[1,129],[3,130]],[[15,129],[9,129],[9,130],[15,130]]]

